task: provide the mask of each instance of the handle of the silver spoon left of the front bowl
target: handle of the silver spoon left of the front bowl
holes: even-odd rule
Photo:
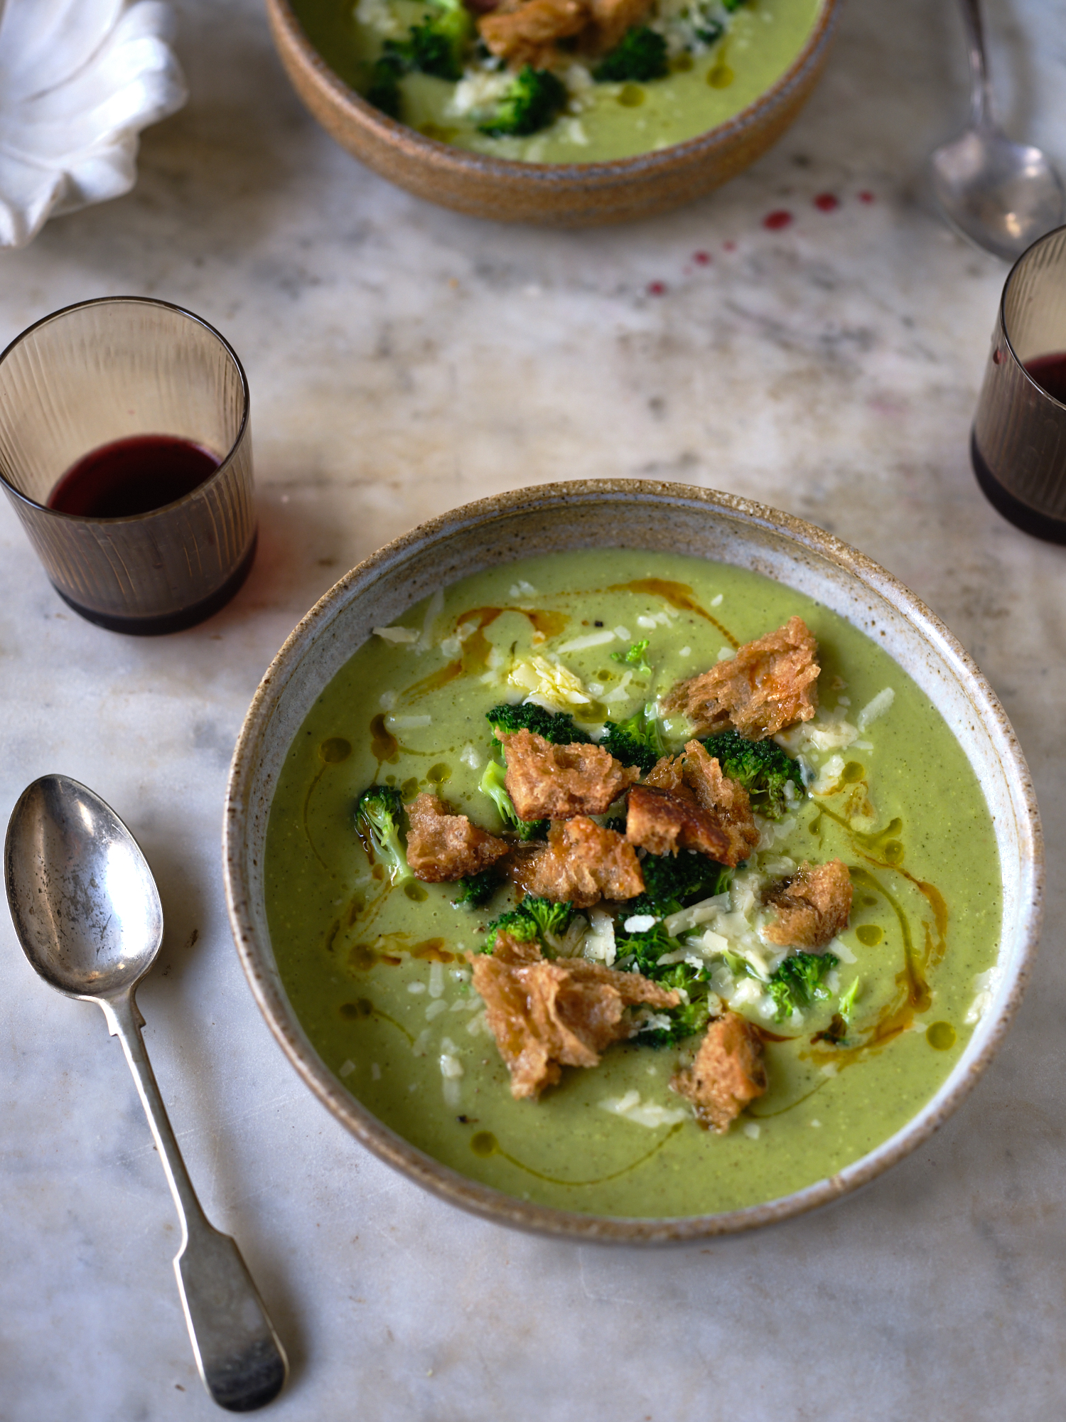
[[[209,1224],[196,1199],[141,1037],[144,1018],[132,991],[101,1001],[101,1007],[129,1062],[182,1223],[173,1271],[196,1367],[219,1406],[252,1412],[273,1401],[284,1386],[289,1372],[284,1348],[240,1250],[229,1234]]]

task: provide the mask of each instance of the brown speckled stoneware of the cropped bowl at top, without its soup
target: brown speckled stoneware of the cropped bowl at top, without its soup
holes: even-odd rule
[[[267,0],[270,28],[300,98],[337,142],[401,188],[497,222],[583,228],[679,208],[753,164],[799,114],[829,54],[839,0],[785,74],[753,104],[698,138],[600,164],[524,164],[468,152],[387,118],[314,50],[289,0]]]

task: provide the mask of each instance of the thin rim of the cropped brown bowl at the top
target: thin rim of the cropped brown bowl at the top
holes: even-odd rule
[[[634,175],[650,175],[661,168],[684,164],[687,159],[698,159],[704,152],[714,152],[716,148],[728,146],[742,137],[759,118],[785,102],[792,90],[802,84],[812,68],[823,63],[826,51],[833,41],[841,0],[819,0],[820,11],[814,20],[810,34],[803,43],[796,57],[777,78],[768,84],[750,104],[738,114],[704,129],[694,138],[669,144],[651,152],[631,154],[627,158],[610,158],[588,164],[532,164],[519,158],[499,158],[495,154],[482,154],[468,148],[458,148],[436,138],[428,138],[416,128],[399,119],[389,118],[381,109],[374,108],[357,90],[354,90],[333,68],[328,60],[314,47],[307,31],[300,23],[290,0],[267,0],[277,16],[277,21],[284,27],[286,37],[300,55],[304,68],[310,70],[317,80],[330,91],[331,98],[347,115],[365,128],[387,146],[401,146],[429,161],[436,168],[445,168],[456,173],[478,173],[482,178],[506,178],[510,181],[529,179],[530,186],[566,186],[569,183],[610,183],[611,179],[624,179]]]

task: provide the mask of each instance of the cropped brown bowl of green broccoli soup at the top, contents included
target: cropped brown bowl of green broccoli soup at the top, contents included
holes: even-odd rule
[[[350,152],[475,216],[593,225],[726,182],[795,119],[837,0],[267,0]]]

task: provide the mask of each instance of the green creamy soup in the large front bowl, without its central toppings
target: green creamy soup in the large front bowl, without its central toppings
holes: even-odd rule
[[[769,1076],[725,1135],[701,1129],[669,1089],[698,1037],[610,1047],[597,1068],[564,1068],[539,1101],[515,1101],[465,954],[485,946],[486,924],[516,892],[503,887],[470,910],[453,904],[451,883],[391,889],[357,838],[358,795],[374,781],[405,802],[429,789],[499,833],[479,789],[490,707],[534,687],[594,729],[793,614],[817,638],[822,664],[816,718],[785,735],[810,791],[783,819],[759,822],[760,846],[733,879],[733,912],[715,926],[745,929],[743,913],[760,912],[760,884],[789,865],[844,860],[854,899],[849,929],[830,944],[840,961],[826,995],[779,1020],[760,974],[745,968],[759,961],[750,933],[731,940],[746,960],[712,964],[715,991],[762,1030]],[[378,1119],[507,1194],[664,1217],[799,1190],[880,1145],[930,1099],[981,1011],[999,934],[999,862],[962,749],[874,641],[760,574],[628,549],[479,573],[385,633],[308,714],[279,779],[266,849],[286,991],[323,1061]],[[642,656],[611,657],[645,638]],[[671,751],[687,738],[679,721],[661,729]]]

